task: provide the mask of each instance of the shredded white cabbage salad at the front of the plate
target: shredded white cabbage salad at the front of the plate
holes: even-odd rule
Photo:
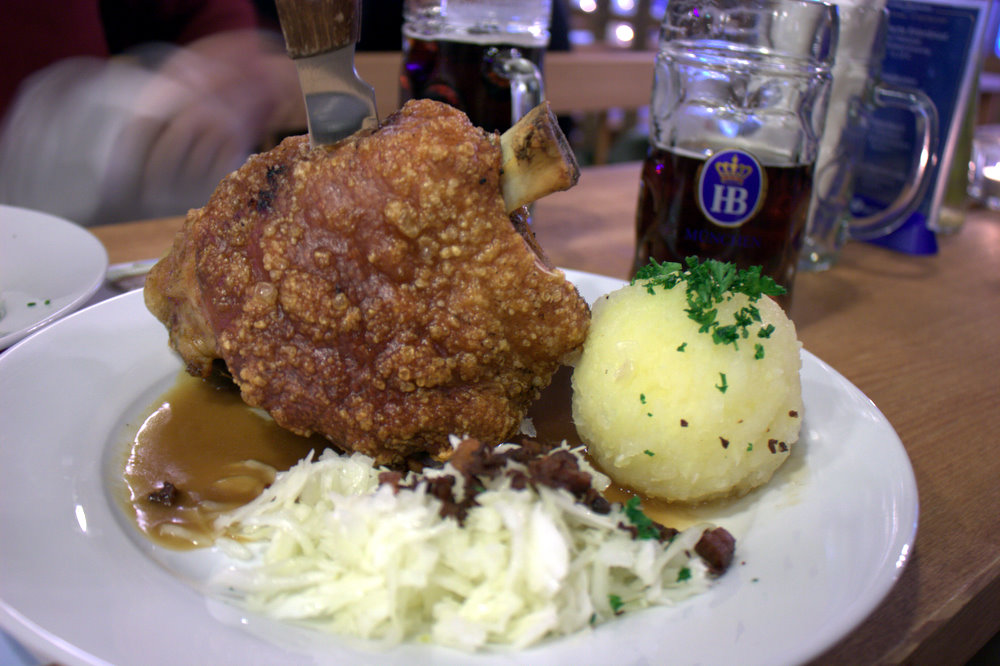
[[[379,485],[385,470],[365,455],[311,458],[217,520],[226,536],[216,543],[230,559],[214,584],[252,611],[335,634],[473,651],[525,647],[711,584],[694,552],[705,525],[669,542],[635,538],[620,505],[597,513],[565,489],[517,490],[504,475],[483,481],[460,525],[441,517],[441,500],[421,480],[461,477],[450,464],[410,473],[414,487],[396,489]]]

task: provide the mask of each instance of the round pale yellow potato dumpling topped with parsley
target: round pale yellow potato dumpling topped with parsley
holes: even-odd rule
[[[573,371],[573,419],[615,482],[693,503],[771,478],[798,440],[802,390],[801,345],[777,303],[728,290],[698,300],[712,279],[691,273],[598,299]]]

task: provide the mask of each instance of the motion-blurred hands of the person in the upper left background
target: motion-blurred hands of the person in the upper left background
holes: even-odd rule
[[[138,55],[24,83],[0,131],[0,202],[85,225],[182,214],[305,117],[294,65],[256,33],[170,48],[155,68]]]

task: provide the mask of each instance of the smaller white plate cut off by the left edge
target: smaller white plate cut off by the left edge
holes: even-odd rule
[[[104,245],[83,227],[0,205],[0,350],[80,307],[107,268]]]

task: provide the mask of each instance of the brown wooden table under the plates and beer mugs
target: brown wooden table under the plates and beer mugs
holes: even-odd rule
[[[626,277],[638,165],[584,170],[536,205],[558,265]],[[94,229],[112,262],[154,257],[181,220]],[[1000,214],[973,211],[930,257],[852,243],[800,274],[805,347],[879,406],[916,472],[920,524],[889,596],[817,663],[962,664],[1000,631]]]

